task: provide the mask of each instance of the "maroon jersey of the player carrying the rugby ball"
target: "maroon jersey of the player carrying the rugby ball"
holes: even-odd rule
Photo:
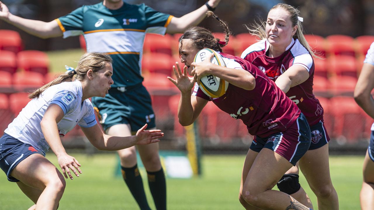
[[[242,120],[253,136],[267,137],[283,132],[296,121],[300,109],[261,70],[239,57],[224,53],[220,55],[228,68],[250,72],[256,80],[255,88],[245,90],[229,84],[223,96],[210,98],[195,83],[192,95],[213,101],[231,117]]]

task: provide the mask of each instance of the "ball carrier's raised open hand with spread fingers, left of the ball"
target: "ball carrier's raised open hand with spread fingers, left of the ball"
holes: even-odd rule
[[[177,80],[174,80],[171,77],[168,77],[168,79],[172,83],[174,83],[175,86],[178,87],[181,93],[191,94],[191,89],[194,86],[195,81],[193,77],[188,77],[187,66],[185,65],[183,67],[183,72],[182,72],[178,62],[175,62],[175,66],[173,66],[173,71],[174,71],[175,77],[177,77]]]

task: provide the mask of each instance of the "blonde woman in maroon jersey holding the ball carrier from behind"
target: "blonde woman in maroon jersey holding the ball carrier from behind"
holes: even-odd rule
[[[304,38],[300,11],[288,4],[276,4],[266,22],[248,28],[261,38],[249,46],[242,58],[260,68],[267,77],[297,104],[308,120],[312,142],[300,159],[300,169],[317,196],[318,209],[338,210],[338,195],[332,185],[328,160],[329,136],[324,126],[323,108],[313,94],[314,52]],[[292,167],[277,186],[300,203],[313,208],[298,180],[298,167]],[[242,196],[239,195],[239,199]],[[242,202],[243,204],[244,201]]]

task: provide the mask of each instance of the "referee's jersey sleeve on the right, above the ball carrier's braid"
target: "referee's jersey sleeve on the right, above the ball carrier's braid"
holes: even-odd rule
[[[145,33],[165,35],[166,28],[173,16],[154,10],[149,6],[143,6],[145,21],[147,22],[147,30],[145,30]]]

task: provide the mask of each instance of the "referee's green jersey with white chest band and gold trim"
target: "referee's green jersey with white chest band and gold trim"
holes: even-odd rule
[[[79,7],[56,21],[64,38],[83,34],[87,52],[113,58],[112,87],[132,87],[143,81],[141,57],[145,33],[166,33],[173,16],[144,4],[127,4],[110,10],[102,2]]]

